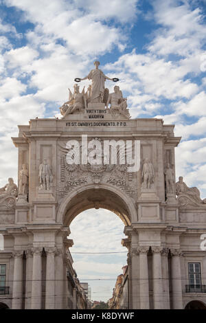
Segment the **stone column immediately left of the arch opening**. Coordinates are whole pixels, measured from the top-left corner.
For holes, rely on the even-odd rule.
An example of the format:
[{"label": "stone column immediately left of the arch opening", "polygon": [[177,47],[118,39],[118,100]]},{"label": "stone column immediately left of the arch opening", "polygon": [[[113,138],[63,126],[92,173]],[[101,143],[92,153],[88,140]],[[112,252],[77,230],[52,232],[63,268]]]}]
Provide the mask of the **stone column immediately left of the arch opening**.
[{"label": "stone column immediately left of the arch opening", "polygon": [[55,309],[64,309],[63,299],[65,298],[65,281],[63,275],[63,252],[61,249],[56,249],[55,253],[55,266],[56,266],[56,298],[55,298]]}]

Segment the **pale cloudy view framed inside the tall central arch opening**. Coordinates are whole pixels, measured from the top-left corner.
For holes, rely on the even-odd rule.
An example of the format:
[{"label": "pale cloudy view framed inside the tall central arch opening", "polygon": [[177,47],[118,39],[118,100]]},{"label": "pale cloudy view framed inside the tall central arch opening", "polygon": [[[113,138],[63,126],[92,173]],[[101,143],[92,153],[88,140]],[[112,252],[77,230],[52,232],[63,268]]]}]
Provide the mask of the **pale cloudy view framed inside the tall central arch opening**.
[{"label": "pale cloudy view framed inside the tall central arch opening", "polygon": [[97,306],[106,303],[127,265],[128,251],[121,245],[124,223],[109,210],[90,209],[73,219],[70,230],[73,247],[69,250],[78,278],[88,283],[90,300]]}]

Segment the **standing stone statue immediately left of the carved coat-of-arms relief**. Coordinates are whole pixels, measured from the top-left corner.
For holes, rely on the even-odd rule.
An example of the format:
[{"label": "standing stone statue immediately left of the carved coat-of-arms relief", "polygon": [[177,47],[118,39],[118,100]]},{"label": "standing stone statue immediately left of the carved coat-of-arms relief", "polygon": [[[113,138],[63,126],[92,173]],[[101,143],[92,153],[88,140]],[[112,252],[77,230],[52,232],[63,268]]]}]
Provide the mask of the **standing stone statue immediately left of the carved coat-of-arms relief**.
[{"label": "standing stone statue immediately left of the carved coat-of-arms relief", "polygon": [[49,164],[47,164],[47,159],[44,159],[43,164],[39,166],[38,178],[40,183],[40,190],[50,190],[50,188],[52,188],[52,170]]}]

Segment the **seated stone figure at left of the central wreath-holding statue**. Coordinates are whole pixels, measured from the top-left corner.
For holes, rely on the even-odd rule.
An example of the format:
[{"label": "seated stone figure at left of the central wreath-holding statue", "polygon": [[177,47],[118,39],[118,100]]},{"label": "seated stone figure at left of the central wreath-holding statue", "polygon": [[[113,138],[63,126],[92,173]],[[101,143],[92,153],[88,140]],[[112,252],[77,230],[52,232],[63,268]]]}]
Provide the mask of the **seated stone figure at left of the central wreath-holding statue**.
[{"label": "seated stone figure at left of the central wreath-holding statue", "polygon": [[84,94],[84,88],[82,89],[82,93],[80,93],[80,87],[75,84],[73,86],[73,93],[69,89],[69,101],[65,102],[62,107],[60,107],[60,113],[65,118],[66,115],[71,114],[78,111],[83,111],[87,108],[86,96]]}]

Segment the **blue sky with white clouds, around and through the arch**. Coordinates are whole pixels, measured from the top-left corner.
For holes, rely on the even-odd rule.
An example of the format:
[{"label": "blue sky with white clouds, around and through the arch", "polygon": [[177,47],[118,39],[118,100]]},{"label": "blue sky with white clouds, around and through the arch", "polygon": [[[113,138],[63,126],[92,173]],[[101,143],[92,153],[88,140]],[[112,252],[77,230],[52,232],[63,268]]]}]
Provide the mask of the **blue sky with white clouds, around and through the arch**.
[{"label": "blue sky with white clouds, around and through the arch", "polygon": [[[86,76],[98,59],[107,76],[120,79],[133,118],[176,124],[175,134],[182,136],[176,176],[183,175],[206,197],[205,12],[205,0],[0,0],[0,186],[8,176],[16,179],[16,148],[10,140],[16,125],[58,115],[73,79]],[[113,85],[107,81],[106,86]],[[82,223],[88,227],[84,232],[91,228],[92,240],[78,229]],[[72,227],[80,278],[117,276],[126,254],[104,255],[104,265],[101,255],[74,254],[91,252],[100,235],[96,250],[124,251],[117,216],[87,211]],[[95,272],[85,265],[87,257]]]}]

